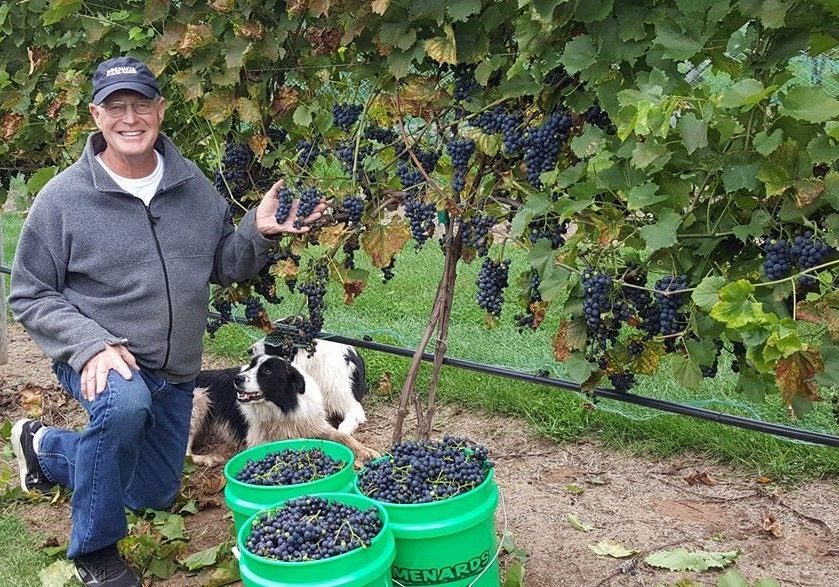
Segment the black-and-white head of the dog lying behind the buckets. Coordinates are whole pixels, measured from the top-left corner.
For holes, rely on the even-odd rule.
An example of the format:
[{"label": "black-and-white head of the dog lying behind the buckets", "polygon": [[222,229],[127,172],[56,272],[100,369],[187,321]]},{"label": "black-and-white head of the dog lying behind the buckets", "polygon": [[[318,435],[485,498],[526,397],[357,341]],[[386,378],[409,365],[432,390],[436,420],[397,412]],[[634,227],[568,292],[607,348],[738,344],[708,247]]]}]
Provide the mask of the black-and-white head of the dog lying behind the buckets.
[{"label": "black-and-white head of the dog lying behind the buckets", "polygon": [[267,401],[288,413],[297,406],[297,396],[306,391],[306,383],[287,361],[258,355],[233,378],[233,388],[242,404]]}]

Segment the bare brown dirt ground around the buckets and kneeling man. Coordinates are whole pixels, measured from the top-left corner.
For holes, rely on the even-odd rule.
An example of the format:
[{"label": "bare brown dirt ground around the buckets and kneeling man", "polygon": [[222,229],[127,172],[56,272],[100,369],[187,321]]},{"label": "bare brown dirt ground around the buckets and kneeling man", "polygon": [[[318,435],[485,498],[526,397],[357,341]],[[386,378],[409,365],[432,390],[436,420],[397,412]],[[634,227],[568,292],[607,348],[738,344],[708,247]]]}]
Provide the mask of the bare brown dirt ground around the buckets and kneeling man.
[{"label": "bare brown dirt ground around the buckets and kneeling man", "polygon": [[[26,410],[29,390],[48,391],[44,419],[54,425],[83,422],[80,409],[55,386],[49,362],[17,326],[10,329],[10,361],[0,366],[0,423]],[[219,366],[218,360],[208,364]],[[34,388],[32,386],[35,386]],[[383,450],[391,437],[393,407],[372,406],[359,431],[362,442]],[[412,429],[408,422],[406,430]],[[719,572],[673,573],[643,562],[658,550],[740,551],[736,568],[750,582],[771,577],[782,585],[825,587],[839,583],[839,484],[836,480],[789,488],[700,455],[640,458],[605,450],[596,440],[556,444],[535,437],[525,422],[468,409],[444,407],[435,426],[490,447],[503,500],[496,514],[528,553],[530,587],[717,585]],[[199,470],[191,484],[220,489],[219,469]],[[190,552],[218,544],[229,533],[220,494],[185,521]],[[215,507],[214,507],[215,506]],[[34,530],[66,542],[66,504],[35,504],[20,510]],[[568,516],[594,526],[574,529]],[[592,552],[602,540],[636,554],[616,559]],[[502,566],[510,564],[502,555]],[[197,585],[182,574],[155,585]],[[682,585],[691,583],[682,583]]]}]

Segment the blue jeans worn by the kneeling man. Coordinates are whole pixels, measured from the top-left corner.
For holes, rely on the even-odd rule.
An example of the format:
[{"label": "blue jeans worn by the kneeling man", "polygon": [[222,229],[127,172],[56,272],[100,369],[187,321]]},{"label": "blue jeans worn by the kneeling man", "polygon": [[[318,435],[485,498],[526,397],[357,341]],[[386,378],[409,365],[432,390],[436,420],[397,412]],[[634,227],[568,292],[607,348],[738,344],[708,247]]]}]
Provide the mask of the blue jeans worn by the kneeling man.
[{"label": "blue jeans worn by the kneeling man", "polygon": [[47,428],[38,462],[47,478],[73,490],[68,558],[114,544],[128,533],[125,508],[167,509],[181,484],[194,382],[173,384],[145,371],[131,380],[111,370],[92,402],[66,363],[53,371],[87,410],[82,432]]}]

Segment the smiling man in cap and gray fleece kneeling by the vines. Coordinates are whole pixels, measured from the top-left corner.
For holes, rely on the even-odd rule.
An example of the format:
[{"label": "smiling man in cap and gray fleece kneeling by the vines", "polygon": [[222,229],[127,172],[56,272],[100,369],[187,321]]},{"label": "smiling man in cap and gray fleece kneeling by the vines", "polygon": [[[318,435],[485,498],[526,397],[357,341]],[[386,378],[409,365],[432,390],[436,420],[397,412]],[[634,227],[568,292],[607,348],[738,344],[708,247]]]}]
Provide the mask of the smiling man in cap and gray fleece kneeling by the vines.
[{"label": "smiling man in cap and gray fleece kneeling by the vines", "polygon": [[165,109],[142,62],[101,63],[98,132],[40,192],[17,248],[9,305],[87,410],[81,433],[18,421],[24,491],[73,490],[67,550],[85,585],[140,585],[116,548],[124,508],[168,508],[180,487],[209,283],[254,275],[283,233],[277,182],[238,229],[198,167],[160,133]]}]

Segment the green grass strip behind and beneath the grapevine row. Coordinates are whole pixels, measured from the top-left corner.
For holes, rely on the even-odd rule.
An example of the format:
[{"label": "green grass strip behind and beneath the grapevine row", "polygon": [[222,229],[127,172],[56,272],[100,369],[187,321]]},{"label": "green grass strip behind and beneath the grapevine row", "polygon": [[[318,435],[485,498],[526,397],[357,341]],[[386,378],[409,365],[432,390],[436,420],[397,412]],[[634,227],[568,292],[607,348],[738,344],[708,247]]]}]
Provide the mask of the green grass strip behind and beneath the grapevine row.
[{"label": "green grass strip behind and beneath the grapevine row", "polygon": [[[22,217],[4,215],[7,266],[11,263],[14,243]],[[307,253],[314,256],[318,251]],[[536,333],[519,333],[512,315],[517,308],[515,296],[521,291],[516,280],[524,269],[525,253],[506,250],[512,259],[511,287],[502,320],[488,329],[483,311],[474,303],[475,277],[479,263],[459,266],[458,287],[452,308],[448,340],[451,357],[499,365],[525,372],[547,370],[555,377],[566,378],[561,363],[551,351],[551,337],[561,316],[551,308]],[[369,283],[352,306],[343,302],[343,294],[333,284],[327,295],[326,330],[354,338],[371,336],[383,343],[414,348],[421,337],[433,302],[436,284],[442,271],[439,249],[430,241],[415,253],[411,244],[399,255],[396,277],[387,284],[370,267],[363,255],[358,266],[371,271]],[[307,258],[304,255],[303,266]],[[285,292],[284,286],[280,288]],[[270,306],[272,316],[286,316],[300,311],[299,295],[288,295],[279,306]],[[558,306],[559,304],[557,304]],[[241,312],[241,309],[239,310]],[[258,331],[236,324],[224,326],[214,339],[205,338],[207,351],[238,361],[244,358]],[[407,373],[409,360],[389,354],[363,351],[368,365],[368,380],[375,387],[384,373],[392,376],[398,393]],[[420,386],[427,382],[429,366],[423,367]],[[790,421],[778,395],[762,404],[750,403],[735,391],[736,376],[723,356],[719,374],[706,379],[700,389],[686,390],[670,378],[667,365],[651,377],[641,377],[635,392],[641,395],[719,410],[758,420],[777,422],[802,429],[839,434],[829,402],[818,402],[802,420]],[[835,390],[827,390],[835,393]],[[614,400],[600,400],[597,410],[584,407],[586,399],[573,392],[528,384],[506,378],[483,375],[456,368],[444,368],[440,382],[441,402],[459,402],[497,414],[520,416],[540,433],[559,441],[585,435],[596,436],[607,446],[634,453],[671,455],[698,451],[720,461],[746,466],[755,474],[798,481],[839,473],[839,451],[828,447],[776,438],[763,433],[740,430],[686,416],[671,415],[632,406]]]}]

